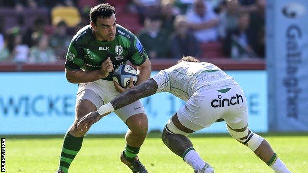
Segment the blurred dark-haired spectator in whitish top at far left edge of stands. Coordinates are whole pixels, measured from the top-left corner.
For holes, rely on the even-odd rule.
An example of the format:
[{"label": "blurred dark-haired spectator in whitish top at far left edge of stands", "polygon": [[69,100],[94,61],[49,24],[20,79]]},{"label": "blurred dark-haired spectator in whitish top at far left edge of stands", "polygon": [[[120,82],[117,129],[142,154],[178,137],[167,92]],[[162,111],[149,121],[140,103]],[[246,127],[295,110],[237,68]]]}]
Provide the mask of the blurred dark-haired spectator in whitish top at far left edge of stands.
[{"label": "blurred dark-haired spectator in whitish top at far left edge of stands", "polygon": [[29,47],[22,44],[20,28],[14,27],[7,31],[5,47],[1,51],[0,59],[15,62],[27,62]]}]

